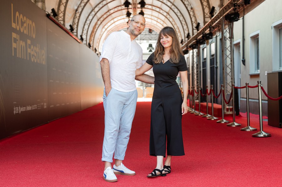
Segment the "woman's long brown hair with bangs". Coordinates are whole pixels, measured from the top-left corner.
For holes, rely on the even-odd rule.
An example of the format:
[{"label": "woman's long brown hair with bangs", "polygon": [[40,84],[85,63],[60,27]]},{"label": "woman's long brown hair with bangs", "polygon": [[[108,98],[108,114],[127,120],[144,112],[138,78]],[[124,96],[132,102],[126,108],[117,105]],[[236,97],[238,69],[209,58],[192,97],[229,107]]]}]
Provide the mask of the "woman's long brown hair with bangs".
[{"label": "woman's long brown hair with bangs", "polygon": [[156,50],[154,52],[154,59],[153,59],[154,63],[159,64],[160,62],[162,62],[163,54],[165,54],[165,48],[160,43],[161,34],[163,34],[164,36],[172,37],[172,45],[171,45],[171,49],[169,52],[170,53],[170,62],[178,64],[178,62],[180,61],[180,55],[183,55],[183,52],[180,48],[180,44],[179,44],[176,32],[172,27],[164,27],[159,32],[159,38],[158,38],[158,42],[155,47]]}]

